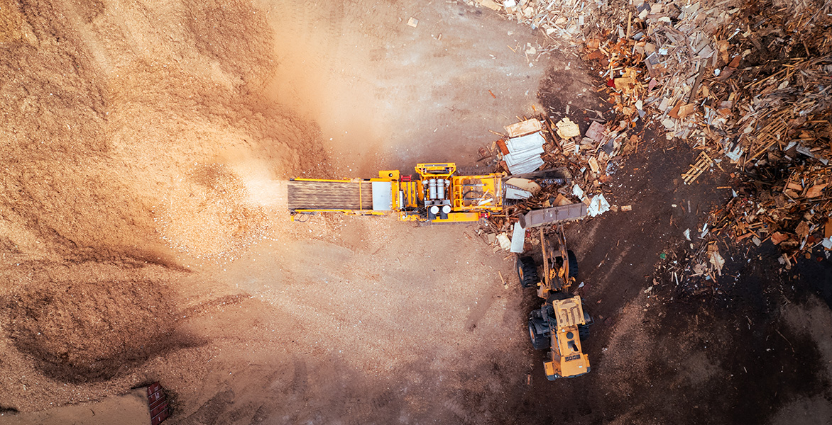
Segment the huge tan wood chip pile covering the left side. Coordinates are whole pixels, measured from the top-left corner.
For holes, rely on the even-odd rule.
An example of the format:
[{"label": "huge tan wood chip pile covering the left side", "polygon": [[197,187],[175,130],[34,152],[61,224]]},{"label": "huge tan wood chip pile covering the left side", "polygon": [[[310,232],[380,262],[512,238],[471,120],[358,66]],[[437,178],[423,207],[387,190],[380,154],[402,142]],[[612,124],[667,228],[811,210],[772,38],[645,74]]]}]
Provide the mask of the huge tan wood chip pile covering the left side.
[{"label": "huge tan wood chip pile covering the left side", "polygon": [[210,284],[181,261],[255,244],[262,192],[327,159],[316,125],[261,95],[274,34],[250,2],[0,0],[0,42],[0,396],[34,410],[196,344],[176,320],[205,300],[181,290]]}]

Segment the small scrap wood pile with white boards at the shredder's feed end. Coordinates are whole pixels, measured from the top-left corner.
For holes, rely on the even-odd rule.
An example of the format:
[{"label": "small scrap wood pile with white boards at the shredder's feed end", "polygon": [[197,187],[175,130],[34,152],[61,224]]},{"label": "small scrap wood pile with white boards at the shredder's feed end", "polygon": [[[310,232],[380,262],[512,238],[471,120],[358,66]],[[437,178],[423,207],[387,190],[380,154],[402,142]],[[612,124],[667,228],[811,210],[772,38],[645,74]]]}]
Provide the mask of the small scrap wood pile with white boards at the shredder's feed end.
[{"label": "small scrap wood pile with white boards at the shredder's feed end", "polygon": [[[617,129],[593,121],[584,134],[569,118],[553,123],[546,116],[505,127],[508,135],[493,143],[497,172],[508,173],[505,182],[506,202],[503,214],[488,218],[488,233],[501,239],[508,250],[508,235],[515,223],[528,217],[530,211],[546,211],[539,220],[560,220],[558,217],[597,216],[610,205],[604,194],[610,180],[612,159],[622,150],[622,136]],[[582,204],[581,208],[567,208]],[[631,206],[620,208],[630,211]],[[551,210],[551,211],[547,211]]]}]

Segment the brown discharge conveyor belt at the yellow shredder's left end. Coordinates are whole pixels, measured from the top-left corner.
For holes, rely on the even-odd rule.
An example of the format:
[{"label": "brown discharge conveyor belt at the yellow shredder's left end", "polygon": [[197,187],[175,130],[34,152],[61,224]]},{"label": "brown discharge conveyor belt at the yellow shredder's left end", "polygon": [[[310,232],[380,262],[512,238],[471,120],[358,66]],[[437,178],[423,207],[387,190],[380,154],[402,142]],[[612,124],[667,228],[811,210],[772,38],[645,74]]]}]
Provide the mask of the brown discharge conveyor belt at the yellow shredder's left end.
[{"label": "brown discharge conveyor belt at the yellow shredder's left end", "polygon": [[290,180],[289,209],[373,209],[373,186],[370,182]]}]

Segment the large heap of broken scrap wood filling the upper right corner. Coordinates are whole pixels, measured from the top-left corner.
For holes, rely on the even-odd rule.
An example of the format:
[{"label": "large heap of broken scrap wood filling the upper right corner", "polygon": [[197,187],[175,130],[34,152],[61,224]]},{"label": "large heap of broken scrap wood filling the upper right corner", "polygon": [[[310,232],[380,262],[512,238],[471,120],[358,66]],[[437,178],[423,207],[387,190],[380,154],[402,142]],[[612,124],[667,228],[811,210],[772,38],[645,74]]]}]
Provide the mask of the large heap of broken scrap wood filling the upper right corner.
[{"label": "large heap of broken scrap wood filling the upper right corner", "polygon": [[[723,209],[735,240],[770,240],[792,258],[832,244],[822,242],[832,226],[832,2],[475,1],[582,48],[617,113],[599,144],[637,152],[640,129],[651,125],[696,149],[686,184],[735,172],[745,183]],[[586,138],[564,139],[542,159],[568,157]]]}]

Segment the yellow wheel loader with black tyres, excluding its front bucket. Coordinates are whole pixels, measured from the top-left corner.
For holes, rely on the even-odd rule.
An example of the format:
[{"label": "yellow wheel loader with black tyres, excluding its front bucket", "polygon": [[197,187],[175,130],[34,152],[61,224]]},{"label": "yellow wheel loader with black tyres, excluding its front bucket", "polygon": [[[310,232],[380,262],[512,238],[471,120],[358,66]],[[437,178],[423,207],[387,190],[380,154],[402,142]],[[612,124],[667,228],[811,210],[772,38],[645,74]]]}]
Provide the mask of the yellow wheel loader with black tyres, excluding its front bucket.
[{"label": "yellow wheel loader with black tyres, excluding its front bucket", "polygon": [[589,372],[581,341],[589,336],[592,317],[583,310],[581,297],[569,292],[577,276],[577,257],[567,250],[563,227],[557,229],[557,249],[547,247],[547,242],[541,229],[540,266],[531,256],[518,256],[517,269],[521,286],[537,286],[537,296],[546,300],[529,314],[528,333],[534,349],[549,350],[543,369],[547,379],[554,380]]}]

